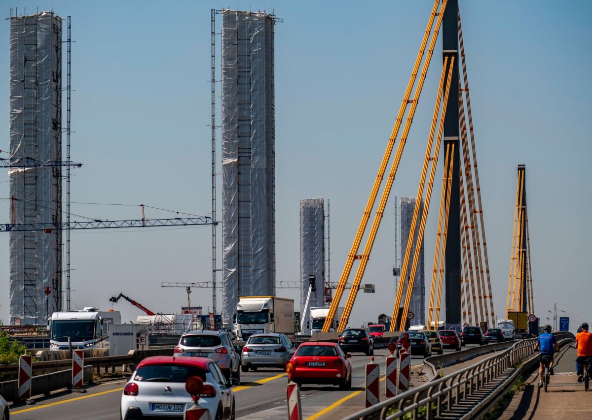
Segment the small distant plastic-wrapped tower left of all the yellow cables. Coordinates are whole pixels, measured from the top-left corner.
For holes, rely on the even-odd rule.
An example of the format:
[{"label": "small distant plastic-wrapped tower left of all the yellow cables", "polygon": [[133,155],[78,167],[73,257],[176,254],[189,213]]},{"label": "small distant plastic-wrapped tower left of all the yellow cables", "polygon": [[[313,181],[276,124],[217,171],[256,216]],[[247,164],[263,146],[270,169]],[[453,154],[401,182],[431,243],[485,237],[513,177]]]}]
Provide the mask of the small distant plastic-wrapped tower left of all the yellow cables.
[{"label": "small distant plastic-wrapped tower left of all the yellow cables", "polygon": [[314,290],[308,308],[325,306],[325,210],[323,198],[300,200],[300,312],[303,325],[310,321],[304,311],[311,280]]}]

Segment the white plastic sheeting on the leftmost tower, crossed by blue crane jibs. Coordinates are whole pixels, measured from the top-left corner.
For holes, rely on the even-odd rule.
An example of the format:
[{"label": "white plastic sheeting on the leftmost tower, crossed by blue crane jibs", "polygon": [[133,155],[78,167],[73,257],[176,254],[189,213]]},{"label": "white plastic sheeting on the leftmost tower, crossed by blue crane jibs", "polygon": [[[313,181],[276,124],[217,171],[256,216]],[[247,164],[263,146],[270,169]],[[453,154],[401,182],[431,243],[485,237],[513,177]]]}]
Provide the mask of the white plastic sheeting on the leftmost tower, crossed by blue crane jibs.
[{"label": "white plastic sheeting on the leftmost tower, crossed by blue crane jibs", "polygon": [[[62,19],[53,12],[10,19],[10,152],[62,159]],[[11,223],[60,223],[60,167],[8,172]],[[12,207],[12,206],[11,206]],[[12,214],[14,213],[14,220]],[[14,232],[10,243],[10,323],[44,324],[61,310],[61,233]],[[50,294],[44,293],[49,287]]]}]

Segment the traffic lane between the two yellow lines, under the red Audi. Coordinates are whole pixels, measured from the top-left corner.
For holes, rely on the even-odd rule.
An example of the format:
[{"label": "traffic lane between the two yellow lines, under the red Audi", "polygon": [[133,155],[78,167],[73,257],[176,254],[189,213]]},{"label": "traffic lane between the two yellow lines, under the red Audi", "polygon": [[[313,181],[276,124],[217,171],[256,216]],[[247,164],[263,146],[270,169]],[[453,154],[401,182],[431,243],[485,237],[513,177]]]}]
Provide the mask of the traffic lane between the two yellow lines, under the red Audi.
[{"label": "traffic lane between the two yellow lines, under the red Audi", "polygon": [[[384,365],[385,358],[390,354],[387,349],[374,351],[374,362]],[[371,362],[371,356],[353,353],[350,360],[352,364],[352,388],[349,390],[340,390],[337,386],[330,385],[303,385],[300,389],[300,397],[303,406],[303,415],[305,417],[317,415],[334,403],[352,396],[363,390],[365,386],[365,366]],[[423,363],[423,359],[413,360],[413,364]],[[277,375],[279,370],[269,370],[268,375]],[[256,372],[258,375],[265,375],[262,369]],[[246,383],[247,378],[241,378]],[[262,385],[248,386],[248,389],[242,389],[235,392],[236,398],[236,416],[244,419],[275,419],[284,418],[287,410],[286,405],[286,386],[287,377],[278,378],[278,380],[269,380]]]}]

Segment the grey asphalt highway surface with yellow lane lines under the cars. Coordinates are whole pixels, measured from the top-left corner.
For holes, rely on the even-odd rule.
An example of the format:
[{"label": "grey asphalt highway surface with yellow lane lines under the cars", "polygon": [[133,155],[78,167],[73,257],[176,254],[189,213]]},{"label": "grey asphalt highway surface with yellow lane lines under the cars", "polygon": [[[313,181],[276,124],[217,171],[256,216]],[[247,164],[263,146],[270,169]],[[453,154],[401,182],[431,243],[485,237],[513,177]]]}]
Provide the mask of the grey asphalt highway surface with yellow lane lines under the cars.
[{"label": "grey asphalt highway surface with yellow lane lines under the cars", "polygon": [[[448,352],[449,350],[445,350]],[[375,362],[381,364],[384,376],[385,357],[388,350],[375,350]],[[362,409],[363,401],[355,398],[364,392],[364,366],[370,356],[352,354],[352,388],[339,390],[337,386],[303,385],[301,399],[303,418],[331,418],[332,409],[340,405],[350,405],[351,412]],[[411,364],[422,364],[423,357],[414,356]],[[56,392],[48,398],[36,399],[35,405],[11,407],[11,418],[27,419],[118,419],[119,403],[124,381],[92,386],[87,393]],[[259,369],[257,372],[242,373],[240,385],[234,387],[236,398],[236,417],[242,419],[285,418],[287,376],[280,369]],[[382,384],[381,384],[382,385]],[[384,385],[382,385],[384,386]],[[349,401],[349,404],[348,404]],[[355,402],[354,404],[352,404]]]}]

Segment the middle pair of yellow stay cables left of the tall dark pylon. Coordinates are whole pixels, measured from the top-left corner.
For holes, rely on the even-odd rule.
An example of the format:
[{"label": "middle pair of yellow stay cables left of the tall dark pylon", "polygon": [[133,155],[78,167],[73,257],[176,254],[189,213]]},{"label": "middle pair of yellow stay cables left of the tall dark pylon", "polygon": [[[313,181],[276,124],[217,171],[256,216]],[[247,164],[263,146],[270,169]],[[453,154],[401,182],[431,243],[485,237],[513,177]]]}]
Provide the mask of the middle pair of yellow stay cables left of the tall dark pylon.
[{"label": "middle pair of yellow stay cables left of the tall dark pylon", "polygon": [[[440,15],[440,17],[442,17]],[[434,155],[432,157],[432,168],[430,170],[430,180],[429,183],[427,184],[427,194],[426,194],[426,201],[424,203],[424,207],[423,207],[423,214],[422,214],[422,220],[420,223],[420,227],[419,227],[419,232],[417,234],[417,244],[420,245],[423,241],[423,233],[424,233],[424,229],[426,226],[426,219],[427,219],[427,213],[430,207],[430,198],[432,196],[432,188],[434,185],[434,176],[436,175],[436,166],[437,166],[437,160],[438,160],[438,154],[440,151],[440,144],[442,143],[442,141],[440,140],[442,138],[442,131],[444,129],[444,119],[446,116],[446,107],[448,106],[448,96],[450,93],[450,82],[451,82],[451,78],[452,78],[452,70],[453,70],[453,66],[454,66],[454,57],[452,56],[450,58],[450,63],[449,63],[449,69],[448,69],[448,79],[447,79],[447,83],[446,83],[446,92],[444,94],[444,102],[443,102],[443,106],[442,106],[442,113],[440,114],[440,123],[439,123],[439,127],[438,127],[438,134],[436,136],[436,148],[434,151]],[[423,183],[425,182],[425,179],[423,179],[420,182],[420,188],[422,188],[423,190]],[[421,200],[422,195],[421,194],[417,194],[417,199]],[[415,220],[415,222],[417,223],[417,217],[416,217],[416,213],[414,212],[413,214],[413,219]],[[411,228],[413,228],[414,224],[413,222],[411,223]],[[409,263],[409,254],[410,254],[410,250],[411,250],[411,245],[413,244],[413,236],[409,235],[409,240],[407,241],[407,250],[406,250],[406,255],[405,255],[405,261],[404,261],[404,265],[403,265],[403,273],[407,273],[407,267],[408,267],[408,263]],[[403,308],[403,313],[401,314],[401,331],[404,330],[405,327],[405,320],[407,318],[407,313],[409,311],[409,304],[411,302],[411,293],[413,292],[413,284],[415,282],[415,275],[417,272],[417,263],[419,262],[419,252],[416,252],[413,256],[413,266],[411,266],[411,273],[408,279],[408,285],[407,285],[407,295],[405,297],[405,305]],[[394,327],[397,321],[397,315],[398,315],[398,308],[399,305],[401,304],[401,297],[403,295],[403,289],[401,288],[402,283],[399,283],[399,289],[397,291],[397,300],[395,301],[395,306],[393,308],[393,314],[394,316],[392,317],[391,320],[391,331],[394,331]],[[395,313],[396,312],[396,313]]]}]

